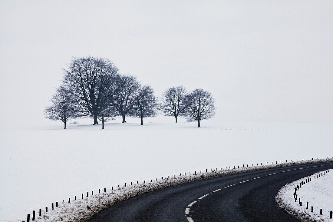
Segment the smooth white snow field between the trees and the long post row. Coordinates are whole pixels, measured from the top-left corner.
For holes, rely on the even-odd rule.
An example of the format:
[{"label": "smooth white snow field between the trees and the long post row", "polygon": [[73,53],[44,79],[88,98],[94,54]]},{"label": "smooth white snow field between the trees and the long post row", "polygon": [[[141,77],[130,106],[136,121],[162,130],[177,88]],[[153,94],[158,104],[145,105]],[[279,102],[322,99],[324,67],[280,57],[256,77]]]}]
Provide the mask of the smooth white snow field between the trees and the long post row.
[{"label": "smooth white snow field between the trees and the long post row", "polygon": [[210,120],[201,125],[2,128],[0,221],[23,221],[27,213],[56,201],[130,182],[216,167],[332,157],[333,124]]}]

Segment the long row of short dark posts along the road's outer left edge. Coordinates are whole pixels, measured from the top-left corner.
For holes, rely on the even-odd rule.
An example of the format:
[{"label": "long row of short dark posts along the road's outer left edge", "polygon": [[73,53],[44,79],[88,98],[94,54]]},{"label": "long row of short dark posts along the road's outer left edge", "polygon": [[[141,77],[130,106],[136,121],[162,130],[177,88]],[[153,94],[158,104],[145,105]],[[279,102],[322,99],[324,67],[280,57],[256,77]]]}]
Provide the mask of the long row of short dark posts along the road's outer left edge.
[{"label": "long row of short dark posts along the road's outer left edge", "polygon": [[[324,159],[324,158],[323,158]],[[333,157],[332,157],[333,159]],[[309,158],[308,158],[309,160]],[[313,160],[313,158],[311,159]],[[317,158],[318,160],[318,158]],[[298,161],[298,159],[297,159]],[[302,159],[302,161],[304,161],[304,159]],[[292,162],[292,160],[291,160]],[[282,163],[282,160],[280,160],[280,163]],[[287,163],[287,160],[286,160],[286,163]],[[277,164],[277,161],[275,161],[275,164]],[[262,166],[262,162],[260,163],[260,165]],[[266,165],[268,165],[268,162],[266,162]],[[273,161],[272,161],[272,165],[273,165]],[[243,168],[244,168],[245,164],[243,164]],[[253,166],[253,163],[251,164],[251,166]],[[257,166],[258,166],[258,163],[257,163]],[[249,165],[247,164],[247,167],[249,167]],[[239,168],[239,165],[238,165],[238,168]],[[225,167],[225,169],[227,170],[227,167]],[[229,170],[231,169],[231,167],[229,166]],[[236,169],[235,166],[233,166],[233,169]],[[222,170],[222,167],[221,167],[221,170]],[[214,170],[212,168],[210,168],[210,171],[213,172]],[[215,172],[217,171],[217,168],[215,168]],[[200,170],[200,174],[202,173],[202,171]],[[206,169],[206,173],[207,173],[207,169]],[[196,174],[196,171],[195,171],[195,174]],[[189,172],[189,175],[191,175],[191,172]],[[184,176],[186,176],[186,172],[184,173]],[[179,177],[181,177],[181,173],[179,174]],[[175,175],[173,175],[173,178],[175,178]],[[162,177],[163,179],[163,177]],[[169,176],[167,176],[167,179],[169,179]],[[157,178],[155,178],[155,181],[157,181]],[[150,182],[153,182],[153,180],[150,180]],[[137,184],[139,183],[139,181],[137,181]],[[146,180],[144,180],[144,184],[146,184]],[[118,188],[119,188],[119,185],[117,185]],[[131,182],[131,186],[132,186],[132,182]],[[125,183],[125,187],[127,187],[127,183]],[[113,187],[111,187],[111,190],[113,190]],[[101,193],[101,189],[98,189],[98,192]],[[104,188],[104,192],[106,192],[106,188]],[[91,195],[94,194],[94,191],[91,191]],[[87,197],[89,197],[89,192],[87,192]],[[83,199],[83,194],[81,194],[81,199]],[[76,201],[76,196],[74,196],[74,201]],[[68,198],[68,203],[71,202],[71,198]],[[65,203],[65,200],[62,201],[62,203]],[[58,202],[56,202],[56,207],[58,207]],[[87,206],[88,208],[88,206]],[[89,207],[90,208],[90,207]],[[53,210],[54,209],[54,204],[52,203],[52,206],[51,206],[51,209]],[[45,212],[48,212],[48,207],[45,207]],[[32,220],[34,221],[35,220],[35,211],[33,211],[33,214],[32,214]],[[41,217],[42,216],[42,208],[39,209],[39,216]],[[24,221],[22,221],[24,222]],[[30,222],[30,214],[27,215],[27,222]]]}]

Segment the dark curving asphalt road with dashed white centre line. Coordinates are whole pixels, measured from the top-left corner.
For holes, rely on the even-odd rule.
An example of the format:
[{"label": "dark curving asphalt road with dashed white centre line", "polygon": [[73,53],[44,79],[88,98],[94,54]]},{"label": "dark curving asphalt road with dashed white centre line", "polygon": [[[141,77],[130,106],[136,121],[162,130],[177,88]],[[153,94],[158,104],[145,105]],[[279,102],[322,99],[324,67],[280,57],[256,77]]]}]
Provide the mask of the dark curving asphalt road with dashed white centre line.
[{"label": "dark curving asphalt road with dashed white centre line", "polygon": [[332,168],[333,162],[312,163],[189,182],[122,201],[90,221],[298,221],[277,208],[275,194],[287,183]]}]

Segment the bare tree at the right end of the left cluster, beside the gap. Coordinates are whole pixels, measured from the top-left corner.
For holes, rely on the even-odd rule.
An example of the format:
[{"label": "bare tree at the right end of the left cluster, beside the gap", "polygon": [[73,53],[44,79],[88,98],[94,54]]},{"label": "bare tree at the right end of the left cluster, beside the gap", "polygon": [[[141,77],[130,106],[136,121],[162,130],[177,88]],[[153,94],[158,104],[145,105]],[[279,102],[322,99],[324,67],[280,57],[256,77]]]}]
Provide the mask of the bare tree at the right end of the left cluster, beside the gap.
[{"label": "bare tree at the right end of the left cluster, beside the gap", "polygon": [[154,96],[154,91],[149,85],[140,88],[138,92],[138,101],[132,113],[132,116],[141,118],[141,126],[144,117],[154,117],[157,115],[157,98]]}]

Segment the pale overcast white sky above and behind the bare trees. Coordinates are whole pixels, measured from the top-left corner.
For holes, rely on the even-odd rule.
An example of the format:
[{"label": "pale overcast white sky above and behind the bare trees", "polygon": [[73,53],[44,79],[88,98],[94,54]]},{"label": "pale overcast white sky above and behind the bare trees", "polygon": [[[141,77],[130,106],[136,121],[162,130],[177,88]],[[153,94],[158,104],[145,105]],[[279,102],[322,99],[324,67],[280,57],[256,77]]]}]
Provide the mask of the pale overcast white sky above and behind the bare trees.
[{"label": "pale overcast white sky above and behind the bare trees", "polygon": [[48,122],[62,68],[87,55],[158,96],[209,90],[216,121],[333,123],[332,11],[304,0],[0,1],[0,124]]}]

